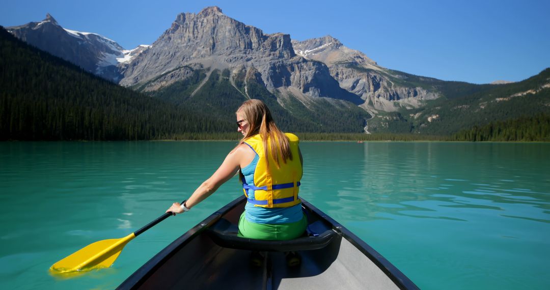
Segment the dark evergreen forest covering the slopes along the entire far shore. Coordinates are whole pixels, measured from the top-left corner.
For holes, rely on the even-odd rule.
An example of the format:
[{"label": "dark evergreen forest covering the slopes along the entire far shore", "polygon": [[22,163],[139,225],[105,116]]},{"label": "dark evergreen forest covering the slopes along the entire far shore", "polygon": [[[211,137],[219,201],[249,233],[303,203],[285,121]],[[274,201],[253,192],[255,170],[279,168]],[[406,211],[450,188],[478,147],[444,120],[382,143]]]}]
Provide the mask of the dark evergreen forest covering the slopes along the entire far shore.
[{"label": "dark evergreen forest covering the slopes along the entire far shore", "polygon": [[[161,90],[147,92],[147,83],[125,88],[29,46],[2,27],[0,141],[238,140],[234,111],[249,96],[265,102],[278,126],[302,140],[550,141],[550,69],[498,86],[419,79],[448,96],[375,118],[328,98],[306,108],[295,97],[267,91],[254,74],[238,74],[230,83],[227,69],[181,69],[190,76]],[[409,75],[410,81],[415,77]],[[525,91],[530,93],[521,94]],[[433,115],[437,121],[427,122]],[[363,133],[365,125],[373,134]]]}]

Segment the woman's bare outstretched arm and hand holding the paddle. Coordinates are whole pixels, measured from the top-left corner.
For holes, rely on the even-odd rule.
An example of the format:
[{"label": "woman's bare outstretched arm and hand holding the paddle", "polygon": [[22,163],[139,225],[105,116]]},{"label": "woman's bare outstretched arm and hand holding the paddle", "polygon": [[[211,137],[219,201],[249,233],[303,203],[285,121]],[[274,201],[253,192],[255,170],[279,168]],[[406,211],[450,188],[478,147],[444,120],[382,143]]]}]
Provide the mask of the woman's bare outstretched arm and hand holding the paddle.
[{"label": "woman's bare outstretched arm and hand holding the paddle", "polygon": [[[218,170],[216,170],[209,179],[202,182],[202,184],[195,189],[195,192],[191,194],[191,197],[186,200],[185,207],[189,209],[193,208],[196,204],[202,202],[202,200],[214,193],[223,183],[235,176],[240,168],[240,160],[243,158],[242,155],[243,150],[241,147],[229,152]],[[183,209],[180,207],[179,203],[172,204],[172,207],[166,210],[167,213],[168,211],[172,211],[174,214],[183,213]]]}]

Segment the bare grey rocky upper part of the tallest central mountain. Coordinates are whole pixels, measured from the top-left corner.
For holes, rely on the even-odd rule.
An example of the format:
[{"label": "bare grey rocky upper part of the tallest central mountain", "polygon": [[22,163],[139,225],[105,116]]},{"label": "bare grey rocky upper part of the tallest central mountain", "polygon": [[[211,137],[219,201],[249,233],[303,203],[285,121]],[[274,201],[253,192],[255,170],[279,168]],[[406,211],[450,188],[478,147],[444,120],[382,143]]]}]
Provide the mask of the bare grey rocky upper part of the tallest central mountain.
[{"label": "bare grey rocky upper part of the tallest central mountain", "polygon": [[297,56],[289,35],[263,34],[256,27],[229,18],[218,7],[205,8],[198,14],[179,14],[150,49],[124,68],[120,84],[139,85],[170,72],[162,80],[150,83],[160,88],[185,78],[185,66],[208,71],[229,69],[232,83],[241,71],[254,71],[271,93],[363,102],[340,88],[326,65]]}]

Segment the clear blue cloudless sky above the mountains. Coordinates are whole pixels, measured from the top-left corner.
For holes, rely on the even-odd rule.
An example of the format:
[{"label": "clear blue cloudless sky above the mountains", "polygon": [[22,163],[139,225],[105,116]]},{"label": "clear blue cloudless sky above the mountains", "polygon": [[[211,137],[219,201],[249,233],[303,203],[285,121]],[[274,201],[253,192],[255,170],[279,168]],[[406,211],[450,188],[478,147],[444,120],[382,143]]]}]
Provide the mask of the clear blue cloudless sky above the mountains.
[{"label": "clear blue cloudless sky above the mountains", "polygon": [[520,81],[550,67],[550,0],[20,0],[2,3],[0,25],[50,13],[131,49],[155,42],[177,14],[212,5],[267,34],[328,34],[384,68],[441,80]]}]

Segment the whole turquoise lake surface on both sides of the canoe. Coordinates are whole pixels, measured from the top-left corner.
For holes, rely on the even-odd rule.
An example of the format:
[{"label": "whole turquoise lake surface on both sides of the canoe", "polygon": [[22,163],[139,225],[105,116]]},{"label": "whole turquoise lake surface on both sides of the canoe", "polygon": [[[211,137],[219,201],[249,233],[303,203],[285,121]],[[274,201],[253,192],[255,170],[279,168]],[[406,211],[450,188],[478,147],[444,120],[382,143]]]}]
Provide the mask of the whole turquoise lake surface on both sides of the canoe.
[{"label": "whole turquoise lake surface on both sides of the canoe", "polygon": [[[0,143],[0,288],[112,289],[241,193],[237,179],[131,241],[109,269],[48,274],[188,197],[234,142]],[[302,197],[422,289],[547,289],[550,144],[303,142]]]}]

